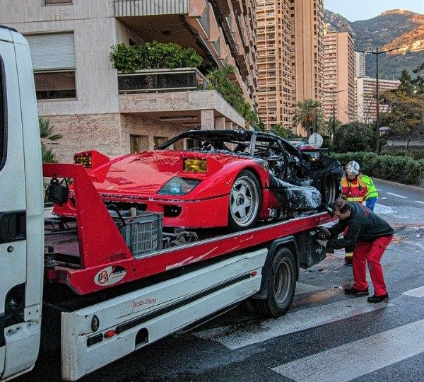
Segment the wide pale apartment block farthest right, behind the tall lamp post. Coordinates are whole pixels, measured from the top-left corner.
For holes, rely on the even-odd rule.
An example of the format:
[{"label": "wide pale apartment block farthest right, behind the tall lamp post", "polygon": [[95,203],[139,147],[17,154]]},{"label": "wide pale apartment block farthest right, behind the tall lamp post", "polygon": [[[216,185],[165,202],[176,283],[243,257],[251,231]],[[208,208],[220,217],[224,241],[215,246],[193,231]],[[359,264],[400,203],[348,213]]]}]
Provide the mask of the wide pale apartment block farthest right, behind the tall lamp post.
[{"label": "wide pale apartment block farthest right, behind the tall lamp post", "polygon": [[[364,123],[370,123],[377,120],[377,79],[370,77],[361,77],[356,81],[356,105],[358,120]],[[399,80],[378,80],[379,93],[382,91],[399,88]],[[387,111],[384,105],[380,105],[379,112]]]}]

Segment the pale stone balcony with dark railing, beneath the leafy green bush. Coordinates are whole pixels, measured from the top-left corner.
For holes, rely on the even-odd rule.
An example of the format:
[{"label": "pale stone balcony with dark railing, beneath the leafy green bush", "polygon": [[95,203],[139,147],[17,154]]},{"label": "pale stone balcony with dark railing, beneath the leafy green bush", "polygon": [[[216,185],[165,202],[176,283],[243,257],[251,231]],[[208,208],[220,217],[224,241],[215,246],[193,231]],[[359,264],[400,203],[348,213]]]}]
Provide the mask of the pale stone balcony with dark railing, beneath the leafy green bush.
[{"label": "pale stone balcony with dark railing, beneath the leafy green bush", "polygon": [[194,68],[118,74],[119,112],[182,128],[245,127],[245,120]]}]

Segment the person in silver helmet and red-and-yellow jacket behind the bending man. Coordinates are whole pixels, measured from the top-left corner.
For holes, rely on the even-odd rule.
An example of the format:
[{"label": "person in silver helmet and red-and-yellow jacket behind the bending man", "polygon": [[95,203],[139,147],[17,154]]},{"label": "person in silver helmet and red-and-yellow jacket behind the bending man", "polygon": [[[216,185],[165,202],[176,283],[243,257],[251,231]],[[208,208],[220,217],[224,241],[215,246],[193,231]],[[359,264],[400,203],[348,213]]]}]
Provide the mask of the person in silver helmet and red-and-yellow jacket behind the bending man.
[{"label": "person in silver helmet and red-and-yellow jacket behind the bending man", "polygon": [[[367,195],[367,185],[359,178],[360,166],[358,162],[350,161],[345,167],[345,176],[341,178],[341,197],[348,202],[362,204]],[[352,264],[353,251],[346,250],[345,264]]]}]

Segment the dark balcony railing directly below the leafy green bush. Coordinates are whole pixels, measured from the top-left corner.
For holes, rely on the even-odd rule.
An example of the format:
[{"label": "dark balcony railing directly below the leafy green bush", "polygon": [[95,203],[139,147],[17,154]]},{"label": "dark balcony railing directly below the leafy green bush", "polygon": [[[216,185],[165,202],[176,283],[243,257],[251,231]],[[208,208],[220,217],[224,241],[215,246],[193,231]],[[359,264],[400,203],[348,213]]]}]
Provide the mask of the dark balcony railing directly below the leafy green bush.
[{"label": "dark balcony railing directly below the leafy green bush", "polygon": [[195,68],[145,69],[118,74],[120,94],[204,90],[206,83],[206,78]]}]

